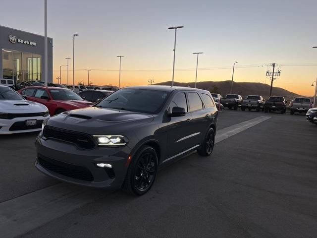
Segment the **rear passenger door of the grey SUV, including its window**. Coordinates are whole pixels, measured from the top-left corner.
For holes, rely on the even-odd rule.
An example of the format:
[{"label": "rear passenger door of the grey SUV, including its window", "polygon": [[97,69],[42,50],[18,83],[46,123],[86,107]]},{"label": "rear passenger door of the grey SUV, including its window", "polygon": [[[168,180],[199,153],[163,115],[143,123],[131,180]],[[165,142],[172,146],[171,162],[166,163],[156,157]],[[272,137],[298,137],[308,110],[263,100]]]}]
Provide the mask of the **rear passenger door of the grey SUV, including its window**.
[{"label": "rear passenger door of the grey SUV, including its window", "polygon": [[209,112],[200,94],[197,91],[188,91],[188,102],[190,112],[192,114],[191,131],[195,136],[193,136],[193,145],[201,144],[205,138],[207,130],[210,126],[211,112]]}]

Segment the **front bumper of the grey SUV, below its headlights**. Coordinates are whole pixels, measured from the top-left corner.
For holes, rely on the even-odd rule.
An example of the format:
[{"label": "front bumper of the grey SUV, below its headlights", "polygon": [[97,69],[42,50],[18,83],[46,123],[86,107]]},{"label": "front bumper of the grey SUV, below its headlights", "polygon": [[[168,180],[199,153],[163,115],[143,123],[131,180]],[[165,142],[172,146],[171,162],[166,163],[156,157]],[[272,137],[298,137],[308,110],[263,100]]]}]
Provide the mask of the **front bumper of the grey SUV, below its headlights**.
[{"label": "front bumper of the grey SUV, below its headlights", "polygon": [[[128,169],[131,149],[124,147],[81,150],[66,142],[38,136],[36,168],[43,174],[65,182],[103,189],[121,187]],[[97,167],[97,163],[112,168]]]}]

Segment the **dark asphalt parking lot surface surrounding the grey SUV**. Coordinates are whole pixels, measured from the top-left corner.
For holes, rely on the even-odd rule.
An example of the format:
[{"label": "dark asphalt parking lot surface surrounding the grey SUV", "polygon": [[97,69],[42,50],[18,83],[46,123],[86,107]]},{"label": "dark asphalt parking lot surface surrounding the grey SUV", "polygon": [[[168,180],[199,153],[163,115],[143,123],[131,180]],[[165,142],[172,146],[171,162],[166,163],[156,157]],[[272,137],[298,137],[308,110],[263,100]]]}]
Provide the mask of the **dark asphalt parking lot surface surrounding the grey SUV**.
[{"label": "dark asphalt parking lot surface surrounding the grey SUV", "polygon": [[0,237],[317,237],[317,126],[225,110],[218,135],[259,117],[270,118],[219,141],[211,157],[160,170],[141,197],[50,179],[34,167],[37,133],[1,136]]}]

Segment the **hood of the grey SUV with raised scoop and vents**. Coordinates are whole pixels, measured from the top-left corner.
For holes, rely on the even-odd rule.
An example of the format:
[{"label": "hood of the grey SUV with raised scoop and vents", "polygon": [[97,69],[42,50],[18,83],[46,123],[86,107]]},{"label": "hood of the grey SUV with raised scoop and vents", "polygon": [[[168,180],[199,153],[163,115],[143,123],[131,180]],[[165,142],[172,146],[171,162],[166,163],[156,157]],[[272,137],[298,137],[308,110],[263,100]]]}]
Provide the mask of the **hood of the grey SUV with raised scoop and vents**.
[{"label": "hood of the grey SUV with raised scoop and vents", "polygon": [[118,134],[149,123],[153,115],[105,108],[82,108],[52,117],[48,125],[87,134]]}]

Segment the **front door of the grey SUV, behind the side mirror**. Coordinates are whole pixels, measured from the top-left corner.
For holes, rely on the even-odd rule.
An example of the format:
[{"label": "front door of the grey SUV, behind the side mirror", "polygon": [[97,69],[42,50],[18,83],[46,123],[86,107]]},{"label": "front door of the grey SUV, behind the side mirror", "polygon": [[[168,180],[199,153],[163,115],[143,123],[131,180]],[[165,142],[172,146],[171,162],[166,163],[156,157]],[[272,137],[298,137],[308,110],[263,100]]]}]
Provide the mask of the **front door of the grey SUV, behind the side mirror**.
[{"label": "front door of the grey SUV, behind the side mirror", "polygon": [[187,96],[185,91],[177,92],[169,106],[168,112],[172,112],[173,107],[185,108],[185,116],[171,117],[167,125],[167,146],[166,146],[166,160],[172,159],[182,152],[192,147],[192,142],[189,139],[192,131],[190,124],[192,120],[189,112]]}]

